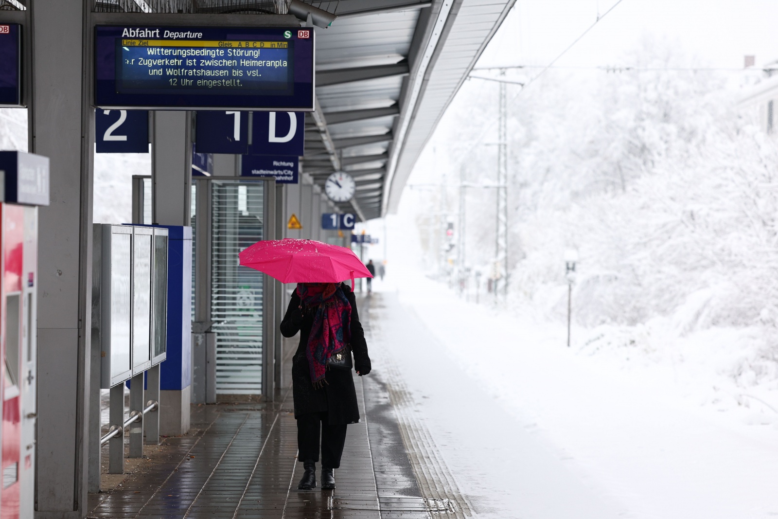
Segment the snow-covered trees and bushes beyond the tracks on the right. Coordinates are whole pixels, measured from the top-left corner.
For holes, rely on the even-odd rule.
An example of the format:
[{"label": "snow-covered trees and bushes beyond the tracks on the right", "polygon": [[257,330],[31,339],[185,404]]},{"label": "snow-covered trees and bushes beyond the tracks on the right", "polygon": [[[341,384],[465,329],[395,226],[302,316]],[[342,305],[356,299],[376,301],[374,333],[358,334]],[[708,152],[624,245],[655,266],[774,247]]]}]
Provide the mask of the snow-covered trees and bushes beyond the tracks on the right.
[{"label": "snow-covered trees and bushes beyond the tracks on the right", "polygon": [[[646,40],[624,62],[618,72],[549,70],[524,92],[509,89],[513,303],[561,317],[563,251],[574,247],[580,324],[664,315],[682,334],[772,328],[778,142],[735,109],[729,78],[689,70],[675,47]],[[447,140],[468,142],[496,121],[496,88],[463,89]],[[468,182],[493,182],[496,148],[468,150],[452,146],[450,162],[466,157]],[[469,189],[466,200],[466,257],[487,264],[494,193]]]}]

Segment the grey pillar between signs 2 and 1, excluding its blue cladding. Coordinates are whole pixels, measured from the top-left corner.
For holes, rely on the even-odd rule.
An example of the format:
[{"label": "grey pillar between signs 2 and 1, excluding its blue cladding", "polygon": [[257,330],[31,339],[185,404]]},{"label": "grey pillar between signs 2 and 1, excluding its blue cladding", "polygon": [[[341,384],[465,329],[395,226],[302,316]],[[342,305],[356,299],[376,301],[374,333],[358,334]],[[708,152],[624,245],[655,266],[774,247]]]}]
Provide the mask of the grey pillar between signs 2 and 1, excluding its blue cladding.
[{"label": "grey pillar between signs 2 and 1, excluding its blue cladding", "polygon": [[[191,112],[156,110],[152,118],[152,222],[188,226],[191,216]],[[189,332],[187,332],[189,333]],[[189,430],[191,386],[159,391],[160,433]]]}]

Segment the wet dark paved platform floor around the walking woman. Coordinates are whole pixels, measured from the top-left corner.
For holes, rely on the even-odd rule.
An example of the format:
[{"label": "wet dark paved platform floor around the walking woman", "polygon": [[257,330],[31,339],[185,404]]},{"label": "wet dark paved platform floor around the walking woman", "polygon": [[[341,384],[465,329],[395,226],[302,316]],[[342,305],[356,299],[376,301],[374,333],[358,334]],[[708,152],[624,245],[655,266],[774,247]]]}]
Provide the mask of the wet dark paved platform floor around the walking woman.
[{"label": "wet dark paved platform floor around the walking woman", "polygon": [[354,376],[362,421],[348,428],[335,490],[318,486],[321,464],[317,488],[297,490],[303,465],[287,388],[275,402],[192,406],[190,433],[145,447],[149,458],[121,485],[89,495],[89,517],[466,517],[467,504],[436,476],[432,444],[395,412],[388,378],[380,368]]}]

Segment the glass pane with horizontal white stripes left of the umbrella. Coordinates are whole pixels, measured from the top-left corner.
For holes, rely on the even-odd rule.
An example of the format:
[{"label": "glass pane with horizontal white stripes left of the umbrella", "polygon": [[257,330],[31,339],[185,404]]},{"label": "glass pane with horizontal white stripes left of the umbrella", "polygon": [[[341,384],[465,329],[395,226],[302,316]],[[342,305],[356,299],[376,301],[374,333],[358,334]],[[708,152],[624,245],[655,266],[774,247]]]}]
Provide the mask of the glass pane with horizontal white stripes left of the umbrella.
[{"label": "glass pane with horizontal white stripes left of the umbrella", "polygon": [[262,239],[264,202],[264,184],[212,183],[211,318],[219,395],[261,394],[262,275],[238,265],[238,252]]}]

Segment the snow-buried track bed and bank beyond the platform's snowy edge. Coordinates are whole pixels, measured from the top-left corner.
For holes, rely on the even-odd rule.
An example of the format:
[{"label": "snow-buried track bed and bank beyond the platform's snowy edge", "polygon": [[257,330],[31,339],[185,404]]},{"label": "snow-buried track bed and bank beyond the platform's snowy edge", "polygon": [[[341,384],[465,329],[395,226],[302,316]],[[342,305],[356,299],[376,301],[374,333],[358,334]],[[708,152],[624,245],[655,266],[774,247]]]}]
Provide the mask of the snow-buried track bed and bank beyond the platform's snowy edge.
[{"label": "snow-buried track bed and bank beyond the platform's snowy edge", "polygon": [[657,318],[575,327],[567,349],[559,321],[465,303],[395,267],[403,281],[385,289],[397,289],[472,382],[621,503],[624,517],[778,513],[778,391],[756,376],[759,330],[681,336],[671,319]]}]

